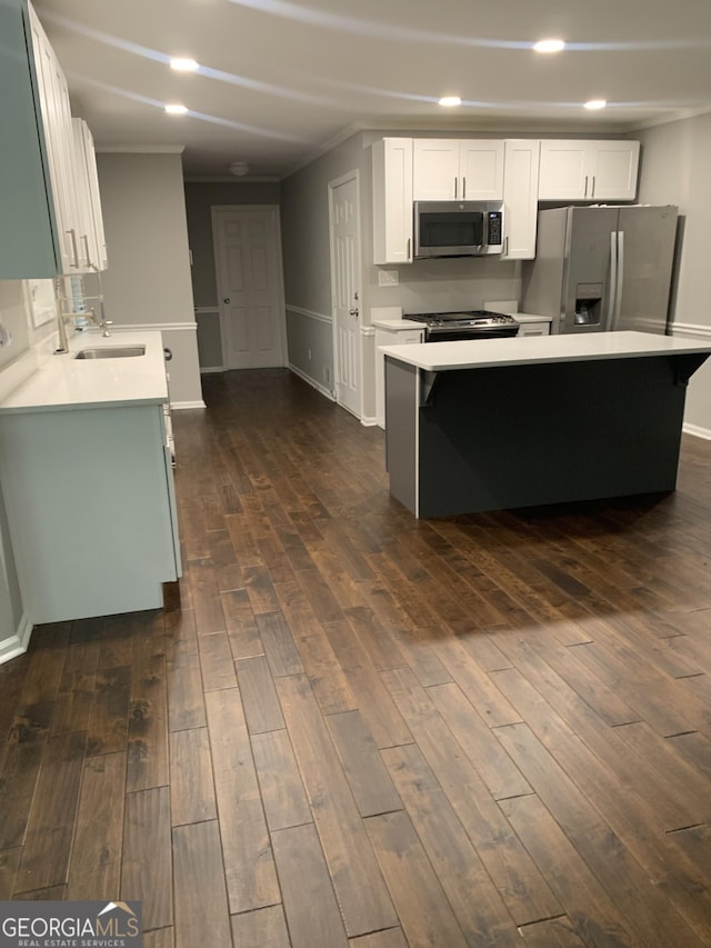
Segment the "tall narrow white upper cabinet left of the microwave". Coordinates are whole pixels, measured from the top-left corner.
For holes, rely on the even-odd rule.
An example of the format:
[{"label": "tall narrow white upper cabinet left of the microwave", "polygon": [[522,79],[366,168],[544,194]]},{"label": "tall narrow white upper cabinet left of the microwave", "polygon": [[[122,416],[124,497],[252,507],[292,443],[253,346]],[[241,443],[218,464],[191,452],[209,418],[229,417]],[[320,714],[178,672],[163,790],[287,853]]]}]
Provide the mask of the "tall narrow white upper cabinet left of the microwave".
[{"label": "tall narrow white upper cabinet left of the microwave", "polygon": [[412,139],[373,143],[373,263],[412,262]]}]

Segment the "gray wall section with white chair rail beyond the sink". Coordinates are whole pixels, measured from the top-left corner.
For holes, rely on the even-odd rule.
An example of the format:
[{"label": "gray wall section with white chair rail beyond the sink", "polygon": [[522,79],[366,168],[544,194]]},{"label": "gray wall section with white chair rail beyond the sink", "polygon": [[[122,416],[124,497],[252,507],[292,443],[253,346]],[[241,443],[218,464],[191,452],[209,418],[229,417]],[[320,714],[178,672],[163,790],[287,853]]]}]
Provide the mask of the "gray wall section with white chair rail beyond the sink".
[{"label": "gray wall section with white chair rail beyond the sink", "polygon": [[[178,323],[163,331],[173,351],[171,401],[202,401],[190,253],[179,153],[99,153],[99,187],[109,269],[107,318],[118,327]],[[97,283],[87,278],[88,292]]]}]

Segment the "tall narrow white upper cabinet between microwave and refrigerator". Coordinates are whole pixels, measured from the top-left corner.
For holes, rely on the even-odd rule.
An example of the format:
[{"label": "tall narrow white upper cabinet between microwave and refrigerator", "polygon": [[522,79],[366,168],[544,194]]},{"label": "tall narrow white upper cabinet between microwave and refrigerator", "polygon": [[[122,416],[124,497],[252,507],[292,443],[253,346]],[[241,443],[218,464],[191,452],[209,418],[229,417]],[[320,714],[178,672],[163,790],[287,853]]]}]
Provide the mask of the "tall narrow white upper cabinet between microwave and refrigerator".
[{"label": "tall narrow white upper cabinet between microwave and refrigerator", "polygon": [[504,260],[535,257],[540,151],[540,141],[511,139],[505,142],[501,255]]}]

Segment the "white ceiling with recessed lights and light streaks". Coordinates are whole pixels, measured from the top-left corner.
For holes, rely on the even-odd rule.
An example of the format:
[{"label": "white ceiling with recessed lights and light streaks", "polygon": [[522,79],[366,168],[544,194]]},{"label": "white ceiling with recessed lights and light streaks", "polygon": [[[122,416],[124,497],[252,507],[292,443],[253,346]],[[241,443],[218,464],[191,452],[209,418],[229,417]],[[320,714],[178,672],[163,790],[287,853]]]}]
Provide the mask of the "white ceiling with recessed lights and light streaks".
[{"label": "white ceiling with recessed lights and light streaks", "polygon": [[[283,177],[356,128],[595,133],[711,109],[711,0],[36,6],[97,146],[184,146],[188,176],[243,160]],[[573,47],[530,50],[548,37]],[[174,72],[171,56],[200,72]],[[464,104],[443,109],[443,94]],[[608,109],[582,109],[592,98]]]}]

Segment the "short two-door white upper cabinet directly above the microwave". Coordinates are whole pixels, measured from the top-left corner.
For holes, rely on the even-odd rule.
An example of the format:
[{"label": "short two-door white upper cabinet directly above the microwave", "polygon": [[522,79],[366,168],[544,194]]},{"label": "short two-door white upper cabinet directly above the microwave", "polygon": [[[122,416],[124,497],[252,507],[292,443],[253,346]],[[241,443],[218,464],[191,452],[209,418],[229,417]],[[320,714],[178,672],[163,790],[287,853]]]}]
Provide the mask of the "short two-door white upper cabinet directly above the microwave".
[{"label": "short two-door white upper cabinet directly above the microwave", "polygon": [[414,139],[414,201],[500,201],[503,140]]}]

